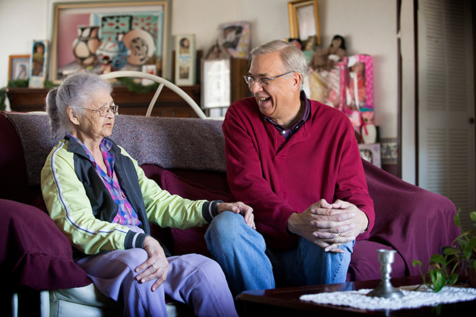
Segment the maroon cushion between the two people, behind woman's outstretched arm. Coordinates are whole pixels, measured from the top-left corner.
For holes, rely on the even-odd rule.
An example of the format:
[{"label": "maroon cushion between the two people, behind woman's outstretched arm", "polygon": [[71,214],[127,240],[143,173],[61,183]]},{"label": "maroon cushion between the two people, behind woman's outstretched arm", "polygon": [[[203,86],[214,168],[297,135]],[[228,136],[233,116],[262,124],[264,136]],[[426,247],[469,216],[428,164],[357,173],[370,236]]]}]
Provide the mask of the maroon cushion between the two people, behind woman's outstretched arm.
[{"label": "maroon cushion between the two people, behind woman's outstretched arm", "polygon": [[[161,175],[161,186],[170,194],[177,194],[191,200],[206,199],[208,201],[230,201],[230,194],[219,190],[210,190],[204,185],[192,183],[176,174],[164,170]],[[189,229],[171,229],[173,249],[172,254],[189,253],[202,254],[211,257],[206,247],[204,235],[208,225]]]}]

